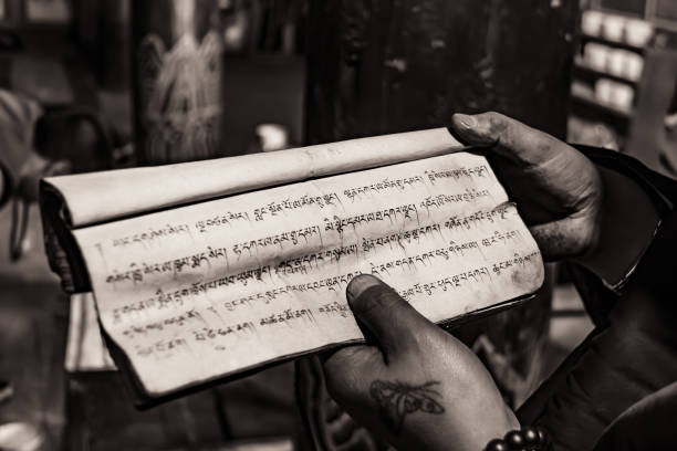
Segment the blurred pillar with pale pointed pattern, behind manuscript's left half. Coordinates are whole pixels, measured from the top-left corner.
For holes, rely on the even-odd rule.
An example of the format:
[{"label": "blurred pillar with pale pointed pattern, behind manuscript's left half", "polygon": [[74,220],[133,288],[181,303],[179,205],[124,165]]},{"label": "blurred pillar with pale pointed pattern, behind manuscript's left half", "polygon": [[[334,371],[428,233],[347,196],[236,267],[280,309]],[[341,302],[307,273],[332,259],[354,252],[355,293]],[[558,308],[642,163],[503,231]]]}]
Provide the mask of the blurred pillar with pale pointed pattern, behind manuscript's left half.
[{"label": "blurred pillar with pale pointed pattern, behind manuscript's left half", "polygon": [[221,156],[218,0],[133,2],[133,83],[140,164]]}]

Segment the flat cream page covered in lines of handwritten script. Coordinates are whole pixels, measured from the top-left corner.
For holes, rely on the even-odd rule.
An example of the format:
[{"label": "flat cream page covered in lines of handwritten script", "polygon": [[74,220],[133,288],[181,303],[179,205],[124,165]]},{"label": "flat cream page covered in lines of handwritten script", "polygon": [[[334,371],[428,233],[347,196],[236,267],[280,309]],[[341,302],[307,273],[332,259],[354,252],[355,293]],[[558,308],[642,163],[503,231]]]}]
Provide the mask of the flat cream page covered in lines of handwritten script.
[{"label": "flat cream page covered in lines of handwritten script", "polygon": [[535,291],[538,247],[487,160],[459,153],[74,231],[100,317],[162,395],[362,339],[375,274],[439,322]]}]

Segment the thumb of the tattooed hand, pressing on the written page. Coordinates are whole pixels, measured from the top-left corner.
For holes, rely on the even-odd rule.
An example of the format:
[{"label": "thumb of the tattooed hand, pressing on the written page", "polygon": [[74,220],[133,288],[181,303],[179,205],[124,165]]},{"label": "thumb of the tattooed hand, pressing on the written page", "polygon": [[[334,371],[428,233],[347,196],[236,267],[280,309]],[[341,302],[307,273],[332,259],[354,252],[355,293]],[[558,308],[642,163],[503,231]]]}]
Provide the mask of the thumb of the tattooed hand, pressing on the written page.
[{"label": "thumb of the tattooed hand, pressing on the written page", "polygon": [[347,286],[347,300],[353,314],[372,333],[386,358],[389,353],[416,344],[417,335],[434,327],[395,290],[373,275],[353,279]]}]

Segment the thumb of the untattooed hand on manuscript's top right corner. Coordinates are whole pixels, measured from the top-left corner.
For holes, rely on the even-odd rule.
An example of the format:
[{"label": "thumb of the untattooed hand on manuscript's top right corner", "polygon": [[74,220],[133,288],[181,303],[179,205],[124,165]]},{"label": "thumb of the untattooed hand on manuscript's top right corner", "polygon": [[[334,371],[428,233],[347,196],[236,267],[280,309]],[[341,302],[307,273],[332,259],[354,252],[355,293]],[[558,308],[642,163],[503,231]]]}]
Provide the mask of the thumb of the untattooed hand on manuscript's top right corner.
[{"label": "thumb of the untattooed hand on manuscript's top right corner", "polygon": [[493,147],[506,158],[530,165],[548,160],[553,153],[569,147],[559,139],[500,113],[490,112],[473,116],[455,114],[451,117],[451,127],[466,144]]}]

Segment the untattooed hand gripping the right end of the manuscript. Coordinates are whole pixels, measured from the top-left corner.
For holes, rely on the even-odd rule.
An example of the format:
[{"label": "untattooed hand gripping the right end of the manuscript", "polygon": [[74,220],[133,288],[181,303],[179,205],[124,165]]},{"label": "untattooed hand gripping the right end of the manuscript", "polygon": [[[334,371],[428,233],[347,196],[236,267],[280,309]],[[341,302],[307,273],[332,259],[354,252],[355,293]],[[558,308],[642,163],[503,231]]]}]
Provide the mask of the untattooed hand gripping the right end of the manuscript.
[{"label": "untattooed hand gripping the right end of the manuscript", "polygon": [[490,149],[487,158],[544,258],[581,258],[594,249],[603,183],[583,154],[498,113],[456,114],[452,127],[467,144]]}]

